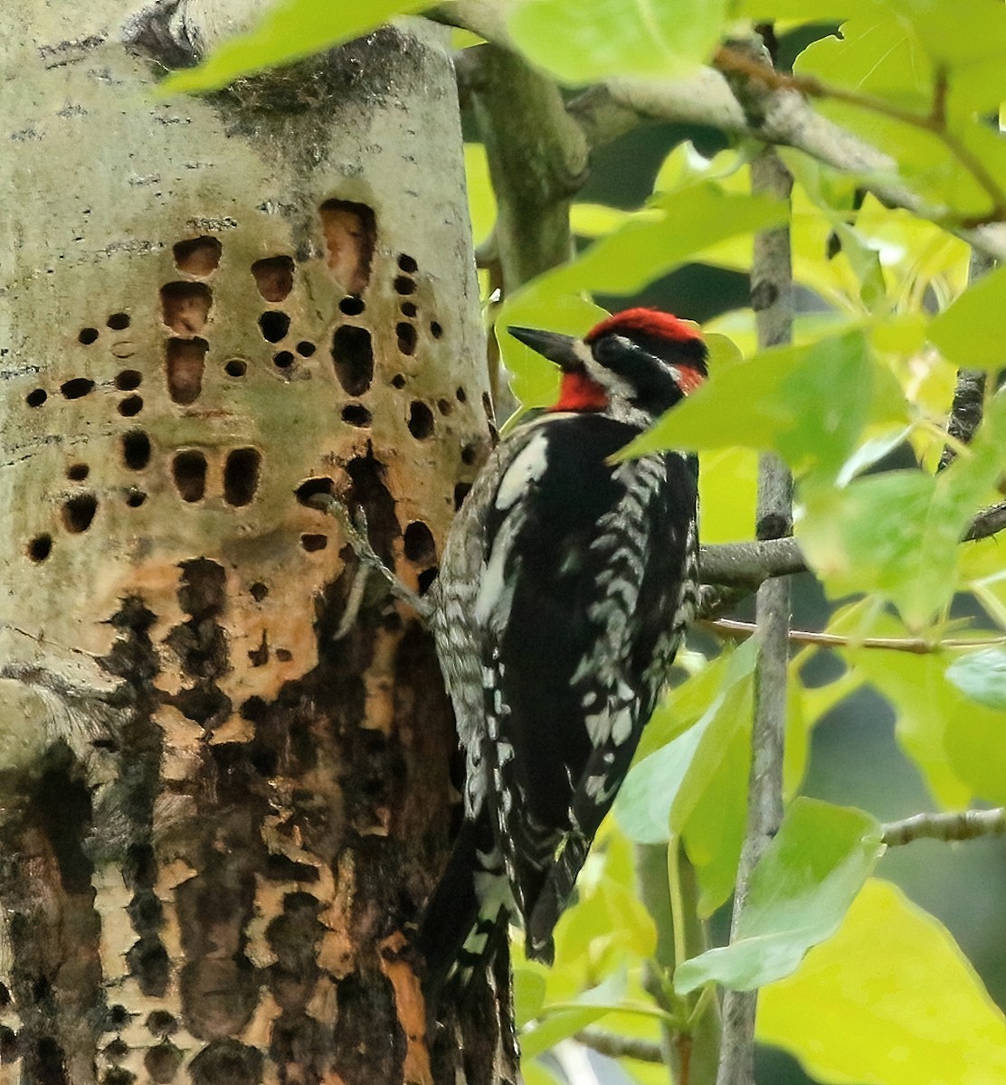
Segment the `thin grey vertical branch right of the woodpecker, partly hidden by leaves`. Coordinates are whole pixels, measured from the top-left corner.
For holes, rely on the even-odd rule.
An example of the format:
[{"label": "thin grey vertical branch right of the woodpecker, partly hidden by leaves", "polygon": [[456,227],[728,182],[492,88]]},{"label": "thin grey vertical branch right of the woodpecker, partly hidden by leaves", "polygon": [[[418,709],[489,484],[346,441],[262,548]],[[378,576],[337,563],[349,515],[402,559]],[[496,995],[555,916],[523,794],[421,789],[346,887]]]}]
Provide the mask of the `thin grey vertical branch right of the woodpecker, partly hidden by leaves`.
[{"label": "thin grey vertical branch right of the woodpecker, partly hidden by leaves", "polygon": [[[751,188],[789,200],[792,178],[781,159],[765,148],[751,163]],[[792,340],[792,263],[789,226],[763,230],[754,239],[751,306],[759,347]],[[760,540],[792,533],[792,477],[774,455],[759,465],[756,534]],[[754,669],[754,722],[748,827],[734,894],[730,939],[737,937],[752,872],[782,821],[782,753],[789,665],[789,580],[766,580],[757,590],[756,621],[762,642]],[[717,1085],[751,1085],[754,1081],[754,1016],[756,991],[726,991],[723,997],[723,1044]]]}]

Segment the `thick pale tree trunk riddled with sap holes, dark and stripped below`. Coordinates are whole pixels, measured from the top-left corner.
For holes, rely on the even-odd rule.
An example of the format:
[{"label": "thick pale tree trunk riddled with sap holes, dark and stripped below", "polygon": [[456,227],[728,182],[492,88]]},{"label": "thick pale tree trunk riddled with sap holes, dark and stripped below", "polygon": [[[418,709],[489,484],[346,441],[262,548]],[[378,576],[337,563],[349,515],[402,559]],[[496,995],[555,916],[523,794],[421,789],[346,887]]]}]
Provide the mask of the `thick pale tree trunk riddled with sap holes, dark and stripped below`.
[{"label": "thick pale tree trunk riddled with sap holes, dark and stripped below", "polygon": [[0,1073],[513,1081],[505,962],[428,1034],[409,952],[430,638],[309,505],[422,589],[488,447],[446,31],[155,99],[207,8],[0,10]]}]

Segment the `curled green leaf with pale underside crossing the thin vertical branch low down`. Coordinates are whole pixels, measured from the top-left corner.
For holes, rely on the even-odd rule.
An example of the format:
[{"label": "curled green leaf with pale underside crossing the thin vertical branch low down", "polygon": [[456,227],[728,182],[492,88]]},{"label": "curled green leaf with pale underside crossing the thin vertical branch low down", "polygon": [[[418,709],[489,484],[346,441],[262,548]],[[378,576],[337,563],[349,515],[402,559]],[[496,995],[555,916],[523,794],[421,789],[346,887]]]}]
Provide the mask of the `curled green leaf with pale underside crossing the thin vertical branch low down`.
[{"label": "curled green leaf with pale underside crossing the thin vertical branch low down", "polygon": [[675,990],[715,981],[751,991],[789,975],[838,930],[882,852],[868,814],[797,799],[751,876],[735,940],[678,966]]}]

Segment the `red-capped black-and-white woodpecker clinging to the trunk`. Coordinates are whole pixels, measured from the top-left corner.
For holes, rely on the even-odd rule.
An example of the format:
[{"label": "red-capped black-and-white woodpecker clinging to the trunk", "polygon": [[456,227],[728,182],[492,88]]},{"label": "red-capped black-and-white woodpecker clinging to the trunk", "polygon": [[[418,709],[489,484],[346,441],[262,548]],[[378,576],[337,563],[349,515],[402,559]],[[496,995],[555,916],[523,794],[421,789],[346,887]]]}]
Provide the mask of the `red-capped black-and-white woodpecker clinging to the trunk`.
[{"label": "red-capped black-and-white woodpecker clinging to the trunk", "polygon": [[431,996],[513,921],[552,961],[699,587],[697,458],[617,454],[704,384],[700,331],[651,308],[583,337],[508,331],[559,367],[560,393],[489,456],[431,589],[464,757],[461,829],[417,936]]}]

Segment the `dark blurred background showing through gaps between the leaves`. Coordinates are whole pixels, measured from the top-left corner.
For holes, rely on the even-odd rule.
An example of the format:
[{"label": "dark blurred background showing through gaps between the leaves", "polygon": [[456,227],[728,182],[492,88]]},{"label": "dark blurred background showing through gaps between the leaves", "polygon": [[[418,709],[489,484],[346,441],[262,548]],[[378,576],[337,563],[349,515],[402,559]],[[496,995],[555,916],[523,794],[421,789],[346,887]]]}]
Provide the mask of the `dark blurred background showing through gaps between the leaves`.
[{"label": "dark blurred background showing through gaps between the leaves", "polygon": [[[810,41],[835,30],[835,26],[801,27],[799,34],[780,38],[777,67],[790,69],[793,59]],[[477,136],[472,132],[469,138]],[[590,178],[578,201],[626,210],[639,208],[652,192],[664,158],[684,141],[690,141],[704,156],[712,156],[727,145],[722,133],[710,128],[661,124],[638,128],[594,155]],[[652,305],[706,322],[748,305],[748,278],[735,271],[689,265],[650,284],[635,297],[599,296],[596,301],[611,310]],[[802,289],[797,304],[803,310],[824,308],[818,298]],[[874,470],[914,464],[914,455],[905,447],[894,450]],[[1006,558],[1006,542],[1003,546]],[[958,600],[956,616],[972,612],[969,600]],[[824,629],[830,613],[831,604],[814,578],[808,574],[795,577],[793,627]],[[735,616],[750,621],[753,600]],[[709,644],[703,638],[703,650]],[[808,687],[824,685],[833,680],[842,667],[833,655],[817,652],[803,676]],[[828,802],[858,806],[883,821],[935,809],[919,773],[895,742],[894,725],[890,705],[870,687],[848,697],[813,732],[803,792]],[[948,928],[992,998],[1006,1007],[1003,917],[1006,840],[985,838],[963,844],[918,841],[888,852],[876,875],[897,883],[912,901]],[[714,918],[714,942],[728,941],[728,931],[729,906]],[[574,1085],[591,1077],[606,1083],[627,1080],[616,1062],[583,1048],[572,1050],[574,1046],[558,1051],[558,1059],[551,1063]],[[801,1085],[811,1081],[795,1060],[767,1047],[759,1049],[756,1074],[761,1085]]]}]

